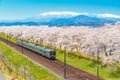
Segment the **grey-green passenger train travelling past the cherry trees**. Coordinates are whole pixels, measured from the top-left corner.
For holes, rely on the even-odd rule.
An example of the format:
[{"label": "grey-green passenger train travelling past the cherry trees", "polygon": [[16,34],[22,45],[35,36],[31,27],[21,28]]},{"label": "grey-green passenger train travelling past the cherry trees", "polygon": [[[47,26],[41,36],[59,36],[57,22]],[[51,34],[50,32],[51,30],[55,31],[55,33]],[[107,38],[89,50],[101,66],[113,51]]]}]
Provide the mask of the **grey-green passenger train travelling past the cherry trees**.
[{"label": "grey-green passenger train travelling past the cherry trees", "polygon": [[56,51],[49,49],[49,48],[45,48],[36,44],[32,44],[29,42],[26,42],[24,40],[17,40],[17,45],[22,46],[26,49],[29,49],[31,51],[37,52],[38,54],[47,57],[50,60],[55,60],[56,59]]}]

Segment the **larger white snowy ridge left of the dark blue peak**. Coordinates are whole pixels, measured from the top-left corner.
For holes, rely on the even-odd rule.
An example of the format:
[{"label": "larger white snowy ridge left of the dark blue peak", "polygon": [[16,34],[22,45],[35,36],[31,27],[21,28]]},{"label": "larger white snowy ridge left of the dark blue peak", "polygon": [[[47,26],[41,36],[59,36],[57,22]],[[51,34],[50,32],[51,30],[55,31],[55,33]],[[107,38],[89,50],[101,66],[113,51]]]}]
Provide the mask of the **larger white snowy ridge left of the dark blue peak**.
[{"label": "larger white snowy ridge left of the dark blue peak", "polygon": [[57,17],[72,17],[78,15],[88,15],[88,13],[65,11],[65,12],[45,12],[40,14],[40,16],[57,16]]}]

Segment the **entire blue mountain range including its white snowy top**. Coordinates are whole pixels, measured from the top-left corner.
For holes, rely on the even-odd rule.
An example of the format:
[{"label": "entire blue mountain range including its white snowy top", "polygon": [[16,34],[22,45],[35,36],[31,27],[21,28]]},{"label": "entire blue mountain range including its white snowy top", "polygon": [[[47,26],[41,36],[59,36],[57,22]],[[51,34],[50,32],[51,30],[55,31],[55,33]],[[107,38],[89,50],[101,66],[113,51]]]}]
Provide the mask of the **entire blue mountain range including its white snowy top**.
[{"label": "entire blue mountain range including its white snowy top", "polygon": [[103,26],[120,21],[120,16],[113,14],[88,14],[76,12],[45,12],[33,18],[0,22],[0,26],[11,25],[48,25],[48,26]]}]

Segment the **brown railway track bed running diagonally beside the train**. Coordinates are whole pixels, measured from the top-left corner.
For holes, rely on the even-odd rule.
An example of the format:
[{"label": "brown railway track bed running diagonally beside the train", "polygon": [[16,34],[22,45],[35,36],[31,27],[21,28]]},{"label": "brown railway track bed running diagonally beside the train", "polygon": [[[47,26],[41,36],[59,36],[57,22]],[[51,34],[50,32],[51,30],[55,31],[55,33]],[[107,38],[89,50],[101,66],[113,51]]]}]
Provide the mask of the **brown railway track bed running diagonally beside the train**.
[{"label": "brown railway track bed running diagonally beside the train", "polygon": [[[29,57],[33,61],[37,62],[40,65],[43,65],[47,69],[51,70],[55,74],[64,77],[64,63],[59,60],[49,60],[47,58],[44,58],[43,56],[39,56],[39,54],[30,51],[28,49],[25,49],[21,46],[18,46],[16,43],[13,43],[11,41],[8,41],[6,39],[3,39],[0,37],[0,41],[8,44],[9,46],[13,47],[20,53],[24,54],[25,56]],[[77,69],[71,65],[66,65],[66,80],[104,80],[100,77],[97,77],[95,75],[92,75],[88,72],[85,72],[83,70]]]}]

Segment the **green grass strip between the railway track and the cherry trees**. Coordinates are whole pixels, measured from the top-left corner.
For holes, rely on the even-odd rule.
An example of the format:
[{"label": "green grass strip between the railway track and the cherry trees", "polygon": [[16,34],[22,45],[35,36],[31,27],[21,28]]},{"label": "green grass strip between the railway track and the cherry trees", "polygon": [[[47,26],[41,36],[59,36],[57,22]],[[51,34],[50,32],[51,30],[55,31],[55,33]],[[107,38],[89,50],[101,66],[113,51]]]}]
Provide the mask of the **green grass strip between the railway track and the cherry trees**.
[{"label": "green grass strip between the railway track and the cherry trees", "polygon": [[[13,40],[12,40],[13,39]],[[14,38],[11,38],[14,41]],[[15,42],[15,41],[14,41]],[[64,52],[57,50],[57,59],[64,60]],[[84,71],[97,75],[97,62],[67,54],[67,63]],[[120,69],[115,66],[99,64],[99,76],[106,80],[120,80]]]}]

